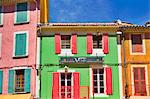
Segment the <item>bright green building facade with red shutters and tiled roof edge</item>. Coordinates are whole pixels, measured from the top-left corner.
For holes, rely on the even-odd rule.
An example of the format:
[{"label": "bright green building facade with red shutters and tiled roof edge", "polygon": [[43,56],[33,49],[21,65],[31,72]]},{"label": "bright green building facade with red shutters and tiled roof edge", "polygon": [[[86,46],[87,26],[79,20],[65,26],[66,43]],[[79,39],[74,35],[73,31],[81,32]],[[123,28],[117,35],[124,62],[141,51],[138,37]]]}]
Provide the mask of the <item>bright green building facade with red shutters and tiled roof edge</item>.
[{"label": "bright green building facade with red shutters and tiled roof edge", "polygon": [[119,99],[116,31],[115,23],[41,26],[41,99]]}]

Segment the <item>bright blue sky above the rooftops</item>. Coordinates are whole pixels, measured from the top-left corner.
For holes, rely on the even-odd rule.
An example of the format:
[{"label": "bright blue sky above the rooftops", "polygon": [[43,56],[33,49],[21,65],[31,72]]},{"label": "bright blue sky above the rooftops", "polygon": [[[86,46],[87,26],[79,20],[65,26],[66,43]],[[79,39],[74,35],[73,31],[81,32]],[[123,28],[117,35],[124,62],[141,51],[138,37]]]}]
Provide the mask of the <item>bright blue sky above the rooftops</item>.
[{"label": "bright blue sky above the rooftops", "polygon": [[49,0],[49,22],[150,21],[150,0]]}]

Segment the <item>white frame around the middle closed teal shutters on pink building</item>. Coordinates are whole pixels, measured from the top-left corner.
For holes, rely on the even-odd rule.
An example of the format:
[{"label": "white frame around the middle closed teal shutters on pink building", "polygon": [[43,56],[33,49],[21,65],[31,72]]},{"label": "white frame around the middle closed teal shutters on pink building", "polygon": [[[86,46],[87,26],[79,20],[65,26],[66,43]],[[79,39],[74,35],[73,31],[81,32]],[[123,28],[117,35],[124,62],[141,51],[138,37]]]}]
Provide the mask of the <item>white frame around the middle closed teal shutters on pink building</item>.
[{"label": "white frame around the middle closed teal shutters on pink building", "polygon": [[[16,56],[15,55],[15,51],[16,51],[16,35],[17,34],[24,34],[26,33],[26,54],[25,55],[19,55],[19,56]],[[14,58],[19,58],[19,57],[26,57],[28,56],[28,46],[29,46],[29,31],[18,31],[18,32],[14,32],[14,40],[13,40],[13,57]]]}]

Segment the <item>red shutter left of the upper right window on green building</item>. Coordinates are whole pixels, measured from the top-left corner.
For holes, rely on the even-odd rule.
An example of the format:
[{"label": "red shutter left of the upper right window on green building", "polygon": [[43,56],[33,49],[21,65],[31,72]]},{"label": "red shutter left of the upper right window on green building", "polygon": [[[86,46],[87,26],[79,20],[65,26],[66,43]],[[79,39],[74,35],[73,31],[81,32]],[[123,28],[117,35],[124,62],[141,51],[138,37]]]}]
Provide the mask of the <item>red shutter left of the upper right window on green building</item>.
[{"label": "red shutter left of the upper right window on green building", "polygon": [[92,54],[93,51],[93,37],[92,34],[87,35],[87,53]]}]

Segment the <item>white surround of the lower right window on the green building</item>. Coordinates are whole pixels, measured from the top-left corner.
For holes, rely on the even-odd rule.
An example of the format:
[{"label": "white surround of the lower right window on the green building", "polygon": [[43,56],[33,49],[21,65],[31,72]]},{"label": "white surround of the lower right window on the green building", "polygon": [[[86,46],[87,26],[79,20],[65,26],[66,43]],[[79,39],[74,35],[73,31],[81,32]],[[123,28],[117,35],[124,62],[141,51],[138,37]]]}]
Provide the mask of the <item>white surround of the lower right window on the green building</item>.
[{"label": "white surround of the lower right window on the green building", "polygon": [[[91,65],[91,68],[90,69],[90,96],[91,97],[108,97],[107,93],[106,93],[106,68],[107,66],[106,65]],[[104,69],[104,93],[93,93],[93,69]]]}]

